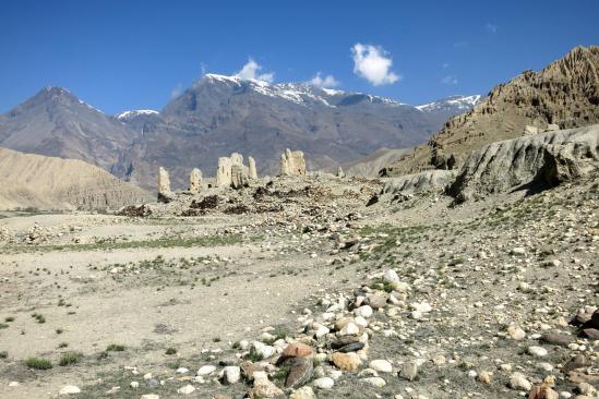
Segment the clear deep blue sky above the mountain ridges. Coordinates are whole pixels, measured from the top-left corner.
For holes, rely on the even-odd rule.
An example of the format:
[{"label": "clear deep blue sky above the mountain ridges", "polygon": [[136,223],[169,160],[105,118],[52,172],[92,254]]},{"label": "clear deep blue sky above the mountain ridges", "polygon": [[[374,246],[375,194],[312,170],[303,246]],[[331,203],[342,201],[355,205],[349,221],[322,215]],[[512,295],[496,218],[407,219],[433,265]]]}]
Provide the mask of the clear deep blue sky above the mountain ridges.
[{"label": "clear deep blue sky above the mountain ridges", "polygon": [[321,72],[321,84],[415,105],[486,94],[599,45],[598,15],[597,0],[3,1],[0,112],[48,85],[108,113],[161,109],[203,72],[250,58],[275,83]]}]

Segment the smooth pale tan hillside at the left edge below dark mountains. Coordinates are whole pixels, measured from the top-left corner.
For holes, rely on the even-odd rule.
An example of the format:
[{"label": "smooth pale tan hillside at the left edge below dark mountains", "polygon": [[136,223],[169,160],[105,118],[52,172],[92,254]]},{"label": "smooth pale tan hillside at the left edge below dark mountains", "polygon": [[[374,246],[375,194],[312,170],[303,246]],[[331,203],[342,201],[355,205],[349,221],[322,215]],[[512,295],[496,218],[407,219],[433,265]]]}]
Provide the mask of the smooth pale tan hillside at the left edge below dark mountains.
[{"label": "smooth pale tan hillside at the left edge below dark mountains", "polygon": [[0,209],[119,208],[147,200],[143,190],[82,160],[0,148]]}]

